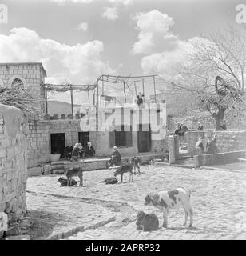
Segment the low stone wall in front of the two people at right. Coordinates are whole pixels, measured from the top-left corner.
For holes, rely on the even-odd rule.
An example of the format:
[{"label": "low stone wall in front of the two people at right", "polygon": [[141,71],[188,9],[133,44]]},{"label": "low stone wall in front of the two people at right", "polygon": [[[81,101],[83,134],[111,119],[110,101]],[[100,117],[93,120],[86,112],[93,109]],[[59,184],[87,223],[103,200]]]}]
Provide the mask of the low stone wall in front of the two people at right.
[{"label": "low stone wall in front of the two people at right", "polygon": [[200,166],[214,166],[220,164],[227,164],[230,162],[238,162],[238,158],[245,158],[245,154],[246,150],[218,154],[195,155],[195,168]]}]

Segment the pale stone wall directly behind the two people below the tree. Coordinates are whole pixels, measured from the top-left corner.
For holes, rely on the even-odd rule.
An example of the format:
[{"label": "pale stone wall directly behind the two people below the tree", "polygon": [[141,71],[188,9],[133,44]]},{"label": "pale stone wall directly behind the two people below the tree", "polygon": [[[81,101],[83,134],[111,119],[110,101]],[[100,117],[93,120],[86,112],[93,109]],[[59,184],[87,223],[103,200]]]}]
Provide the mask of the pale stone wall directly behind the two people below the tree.
[{"label": "pale stone wall directly behind the two people below the tree", "polygon": [[230,152],[236,150],[246,149],[246,130],[204,130],[204,131],[188,131],[188,153],[191,155],[196,154],[196,142],[198,138],[204,138],[204,148],[208,137],[216,135],[216,146],[218,153]]}]

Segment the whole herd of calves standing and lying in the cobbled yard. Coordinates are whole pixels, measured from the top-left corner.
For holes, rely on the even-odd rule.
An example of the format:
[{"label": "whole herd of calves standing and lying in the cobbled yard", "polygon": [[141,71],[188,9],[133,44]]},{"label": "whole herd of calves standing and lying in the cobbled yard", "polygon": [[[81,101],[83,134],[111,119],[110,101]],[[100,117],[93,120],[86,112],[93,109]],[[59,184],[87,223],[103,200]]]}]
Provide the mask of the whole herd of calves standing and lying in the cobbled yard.
[{"label": "whole herd of calves standing and lying in the cobbled yard", "polygon": [[[121,182],[123,182],[123,175],[125,173],[129,174],[129,182],[133,182],[133,174],[140,174],[141,159],[133,157],[126,164],[121,166],[114,166],[116,170],[114,171],[114,176],[110,178],[105,178],[101,182],[105,184],[117,184],[117,176],[120,175]],[[79,178],[79,186],[83,186],[83,170],[81,167],[75,167],[68,170],[66,173],[66,179],[60,177],[58,182],[61,186],[73,186],[77,185],[77,181],[73,177]],[[190,222],[189,227],[192,226],[192,206],[190,205],[191,191],[185,188],[177,188],[175,190],[160,191],[158,193],[151,193],[145,197],[145,206],[154,206],[161,210],[163,213],[163,227],[168,225],[168,212],[170,209],[183,208],[185,211],[185,223],[186,226],[187,219],[189,216]],[[139,211],[137,214],[137,230],[152,231],[159,229],[159,220],[155,214],[145,214],[143,211]]]}]

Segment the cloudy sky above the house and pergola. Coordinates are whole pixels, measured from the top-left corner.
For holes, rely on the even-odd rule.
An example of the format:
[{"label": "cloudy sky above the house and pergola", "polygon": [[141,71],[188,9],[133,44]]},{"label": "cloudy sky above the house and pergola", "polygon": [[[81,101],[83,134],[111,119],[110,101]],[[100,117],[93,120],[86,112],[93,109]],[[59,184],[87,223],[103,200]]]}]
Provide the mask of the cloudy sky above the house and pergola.
[{"label": "cloudy sky above the house and pergola", "polygon": [[[0,0],[0,4],[8,8],[7,23],[0,23],[0,62],[42,62],[46,82],[86,84],[101,74],[169,74],[191,50],[190,42],[204,40],[205,34],[223,30],[228,22],[245,26],[236,23],[236,6],[246,1]],[[112,87],[108,94],[113,94]],[[68,102],[65,97],[60,99]]]}]

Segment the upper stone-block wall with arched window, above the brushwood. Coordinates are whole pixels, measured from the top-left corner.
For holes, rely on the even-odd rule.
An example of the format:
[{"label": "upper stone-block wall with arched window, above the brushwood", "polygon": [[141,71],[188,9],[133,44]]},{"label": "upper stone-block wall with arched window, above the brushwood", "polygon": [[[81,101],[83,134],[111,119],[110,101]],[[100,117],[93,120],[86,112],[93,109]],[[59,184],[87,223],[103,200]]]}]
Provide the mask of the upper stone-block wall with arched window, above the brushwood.
[{"label": "upper stone-block wall with arched window, above the brushwood", "polygon": [[32,119],[43,118],[46,114],[46,93],[41,84],[46,77],[42,63],[0,63],[2,85],[11,87],[15,78],[22,80],[24,89],[37,99],[38,114]]}]

